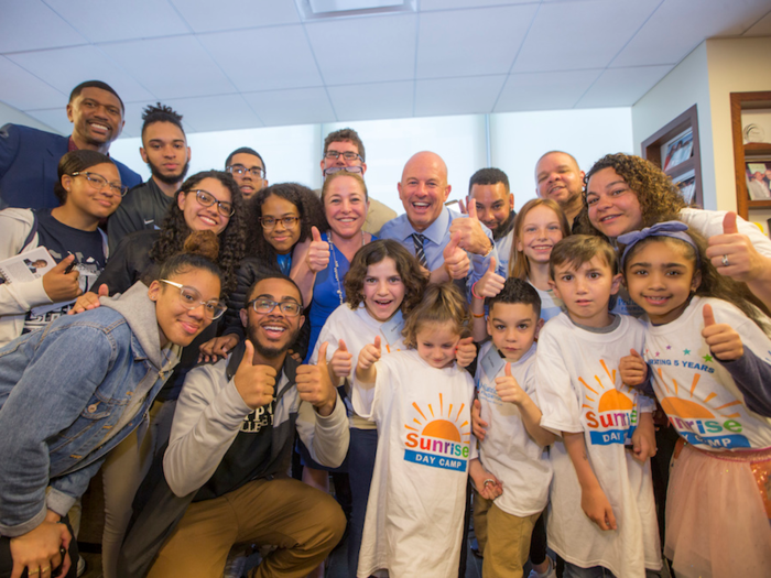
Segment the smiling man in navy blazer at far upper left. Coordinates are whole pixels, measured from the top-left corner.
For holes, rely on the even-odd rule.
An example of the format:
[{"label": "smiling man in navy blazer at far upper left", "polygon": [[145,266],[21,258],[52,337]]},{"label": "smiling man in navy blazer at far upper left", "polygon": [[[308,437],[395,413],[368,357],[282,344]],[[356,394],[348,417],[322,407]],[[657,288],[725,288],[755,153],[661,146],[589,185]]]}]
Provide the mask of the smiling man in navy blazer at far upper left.
[{"label": "smiling man in navy blazer at far upper left", "polygon": [[[0,209],[46,209],[58,206],[54,195],[59,159],[69,151],[90,149],[108,154],[110,143],[123,130],[123,101],[108,84],[88,80],[69,95],[67,118],[73,133],[62,137],[21,124],[0,128]],[[115,161],[115,160],[113,160]],[[142,178],[115,161],[123,185]]]}]

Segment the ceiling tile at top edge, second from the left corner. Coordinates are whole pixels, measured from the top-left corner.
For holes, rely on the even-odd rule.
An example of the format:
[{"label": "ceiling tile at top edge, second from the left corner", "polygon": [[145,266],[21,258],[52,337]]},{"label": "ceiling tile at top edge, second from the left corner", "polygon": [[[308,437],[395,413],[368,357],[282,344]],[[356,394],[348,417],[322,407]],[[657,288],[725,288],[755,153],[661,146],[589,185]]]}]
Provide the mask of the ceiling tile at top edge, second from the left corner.
[{"label": "ceiling tile at top edge, second from the left corner", "polygon": [[91,42],[189,33],[174,8],[159,0],[46,0],[56,13]]}]

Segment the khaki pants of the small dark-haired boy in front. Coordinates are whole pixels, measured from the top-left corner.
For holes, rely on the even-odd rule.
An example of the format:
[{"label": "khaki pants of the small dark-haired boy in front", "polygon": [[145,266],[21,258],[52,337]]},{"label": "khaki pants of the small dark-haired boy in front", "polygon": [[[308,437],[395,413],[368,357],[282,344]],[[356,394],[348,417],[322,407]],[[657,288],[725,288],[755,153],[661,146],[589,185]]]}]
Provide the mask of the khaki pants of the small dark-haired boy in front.
[{"label": "khaki pants of the small dark-haired boy in front", "polygon": [[485,557],[485,578],[522,576],[528,561],[530,536],[541,512],[519,517],[507,514],[491,500],[474,491],[474,533]]}]

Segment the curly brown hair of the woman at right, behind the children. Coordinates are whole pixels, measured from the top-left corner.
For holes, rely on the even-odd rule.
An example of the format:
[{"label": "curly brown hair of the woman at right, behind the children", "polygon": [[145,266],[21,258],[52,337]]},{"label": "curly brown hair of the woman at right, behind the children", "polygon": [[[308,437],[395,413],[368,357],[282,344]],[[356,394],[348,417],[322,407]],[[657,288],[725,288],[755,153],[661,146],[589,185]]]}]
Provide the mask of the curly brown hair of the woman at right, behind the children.
[{"label": "curly brown hair of the woman at right, behind the children", "polygon": [[586,195],[589,179],[604,168],[612,168],[632,189],[640,203],[641,227],[650,227],[662,221],[665,215],[674,215],[687,204],[672,179],[656,165],[631,154],[606,154],[595,163],[584,177],[584,208],[576,217],[576,232],[585,235],[602,233],[589,221]]}]

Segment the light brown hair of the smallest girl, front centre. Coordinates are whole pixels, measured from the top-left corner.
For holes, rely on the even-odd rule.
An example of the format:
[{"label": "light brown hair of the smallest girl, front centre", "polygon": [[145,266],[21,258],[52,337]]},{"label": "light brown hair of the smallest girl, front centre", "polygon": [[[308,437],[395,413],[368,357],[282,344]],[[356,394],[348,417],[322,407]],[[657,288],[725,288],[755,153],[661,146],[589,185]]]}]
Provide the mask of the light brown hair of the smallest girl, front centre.
[{"label": "light brown hair of the smallest girl, front centre", "polygon": [[404,345],[411,349],[417,347],[417,331],[427,324],[452,323],[455,331],[465,337],[469,334],[470,321],[471,309],[455,283],[428,285],[423,298],[404,321]]}]

